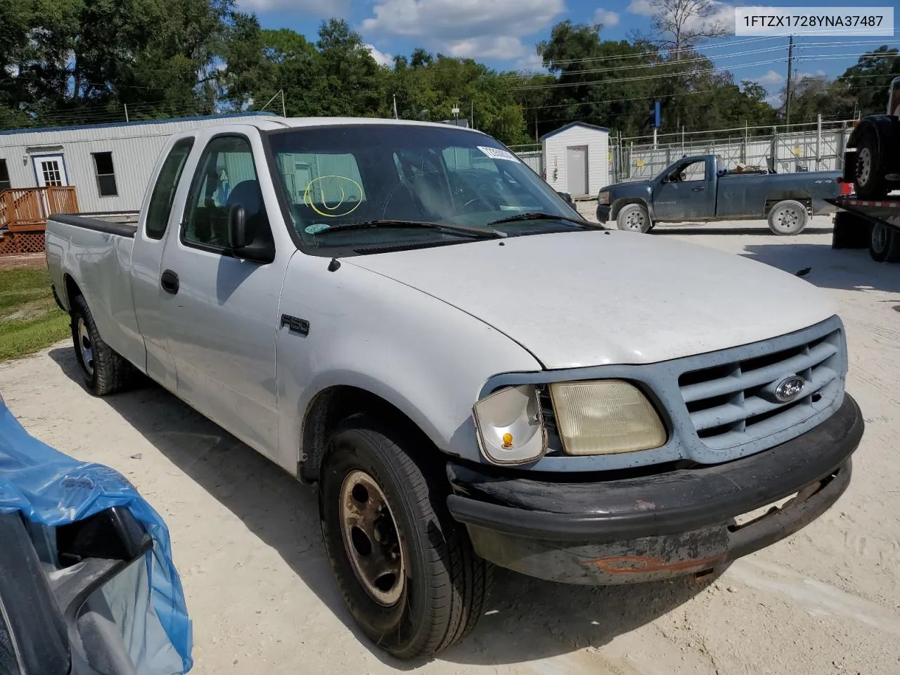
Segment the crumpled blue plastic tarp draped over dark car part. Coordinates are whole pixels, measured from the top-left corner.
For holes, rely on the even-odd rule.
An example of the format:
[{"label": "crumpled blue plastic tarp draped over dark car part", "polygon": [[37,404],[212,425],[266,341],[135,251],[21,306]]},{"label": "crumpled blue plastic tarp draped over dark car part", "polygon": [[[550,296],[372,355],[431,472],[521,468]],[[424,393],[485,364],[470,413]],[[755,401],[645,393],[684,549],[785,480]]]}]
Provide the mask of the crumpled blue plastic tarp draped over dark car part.
[{"label": "crumpled blue plastic tarp draped over dark car part", "polygon": [[[140,614],[125,617],[132,658],[139,672],[185,673],[193,665],[193,631],[166,523],[120,473],[79,462],[29,436],[0,399],[0,510],[58,527],[110,507],[129,509],[153,538],[146,574],[132,575],[146,587],[139,595],[149,599],[128,603],[132,615]],[[142,626],[140,635],[133,635],[135,625]],[[180,670],[172,670],[179,660]]]}]

